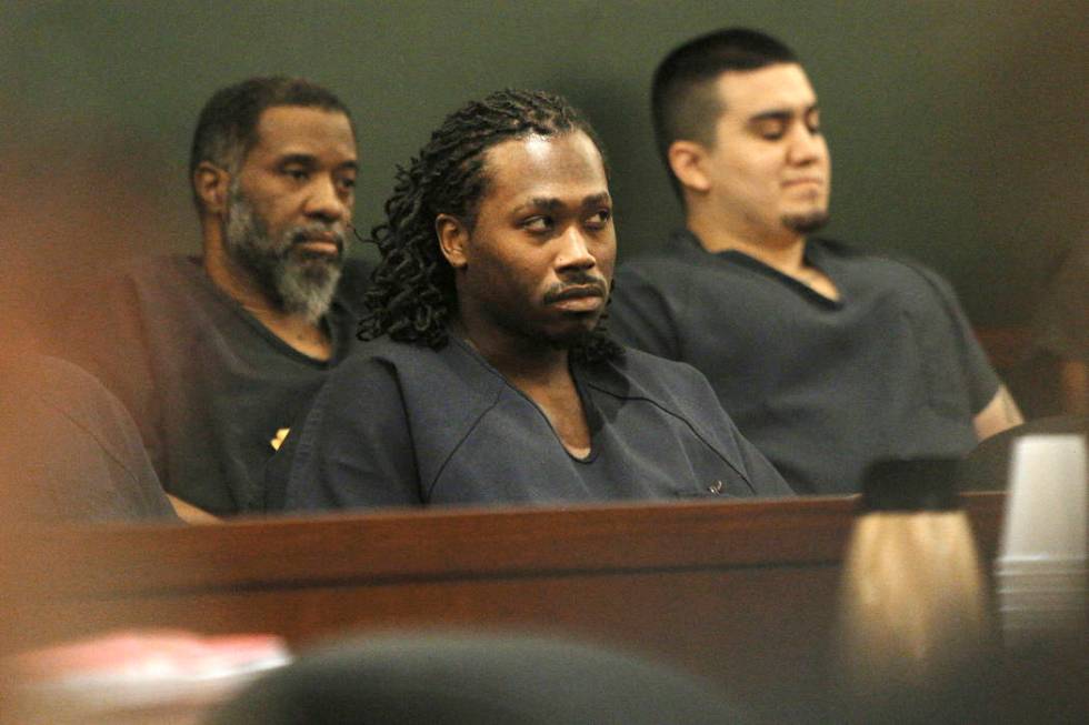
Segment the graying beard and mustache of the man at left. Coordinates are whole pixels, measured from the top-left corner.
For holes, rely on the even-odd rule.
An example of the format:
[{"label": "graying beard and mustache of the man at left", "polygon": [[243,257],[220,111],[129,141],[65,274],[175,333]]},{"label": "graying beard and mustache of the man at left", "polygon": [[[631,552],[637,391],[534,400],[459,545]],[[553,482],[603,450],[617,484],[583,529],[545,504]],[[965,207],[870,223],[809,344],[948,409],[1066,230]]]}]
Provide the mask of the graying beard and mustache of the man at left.
[{"label": "graying beard and mustache of the man at left", "polygon": [[[340,242],[336,259],[306,254],[294,246],[297,239],[311,233],[332,232]],[[231,184],[223,241],[228,256],[250,273],[261,292],[280,310],[302,315],[317,324],[329,311],[343,268],[343,234],[329,224],[314,222],[284,230],[279,239],[250,205],[246,195]]]}]

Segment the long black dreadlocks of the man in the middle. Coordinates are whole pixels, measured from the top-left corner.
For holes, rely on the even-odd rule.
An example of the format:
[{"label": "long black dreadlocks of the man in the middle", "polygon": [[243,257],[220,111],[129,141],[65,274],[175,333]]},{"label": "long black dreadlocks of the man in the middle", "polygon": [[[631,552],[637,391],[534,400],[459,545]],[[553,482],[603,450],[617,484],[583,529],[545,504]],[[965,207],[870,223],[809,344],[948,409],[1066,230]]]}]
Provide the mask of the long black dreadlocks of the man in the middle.
[{"label": "long black dreadlocks of the man in the middle", "polygon": [[[491,147],[528,135],[578,131],[590,138],[603,162],[593,129],[559,95],[508,89],[448,115],[409,168],[398,167],[393,194],[386,201],[386,222],[371,230],[370,241],[381,261],[364,294],[368,313],[360,322],[359,339],[384,334],[432,350],[443,348],[458,294],[453,268],[439,249],[436,218],[450,214],[472,230],[488,191],[484,153]],[[589,363],[621,352],[600,323],[571,349],[576,360]]]}]

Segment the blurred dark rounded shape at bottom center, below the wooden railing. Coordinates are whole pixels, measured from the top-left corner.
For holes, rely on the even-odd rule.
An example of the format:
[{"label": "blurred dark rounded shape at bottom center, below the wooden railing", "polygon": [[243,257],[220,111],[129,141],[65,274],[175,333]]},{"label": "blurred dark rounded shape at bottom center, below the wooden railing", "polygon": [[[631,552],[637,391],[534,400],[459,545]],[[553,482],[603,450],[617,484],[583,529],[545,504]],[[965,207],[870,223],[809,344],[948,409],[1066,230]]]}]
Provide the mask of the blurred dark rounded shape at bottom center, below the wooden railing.
[{"label": "blurred dark rounded shape at bottom center, below the wooden railing", "polygon": [[700,679],[640,657],[520,634],[349,641],[247,688],[212,725],[721,725],[748,722]]}]

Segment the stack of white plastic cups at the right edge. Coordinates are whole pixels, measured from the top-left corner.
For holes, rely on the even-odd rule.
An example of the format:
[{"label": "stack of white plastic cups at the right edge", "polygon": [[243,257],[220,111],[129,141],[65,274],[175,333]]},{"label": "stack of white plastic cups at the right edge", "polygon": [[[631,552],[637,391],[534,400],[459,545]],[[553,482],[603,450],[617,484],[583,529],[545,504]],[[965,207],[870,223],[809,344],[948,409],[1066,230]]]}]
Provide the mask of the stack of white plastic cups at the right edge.
[{"label": "stack of white plastic cups at the right edge", "polygon": [[1080,435],[1027,435],[1015,443],[995,565],[1007,645],[1085,635],[1086,459]]}]

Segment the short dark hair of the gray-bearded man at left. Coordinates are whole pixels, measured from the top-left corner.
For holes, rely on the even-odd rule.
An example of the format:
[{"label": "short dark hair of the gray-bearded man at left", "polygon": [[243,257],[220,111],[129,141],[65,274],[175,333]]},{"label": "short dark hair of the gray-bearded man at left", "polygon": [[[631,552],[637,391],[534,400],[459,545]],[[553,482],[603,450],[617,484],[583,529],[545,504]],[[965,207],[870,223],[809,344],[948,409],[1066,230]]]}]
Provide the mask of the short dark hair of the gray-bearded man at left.
[{"label": "short dark hair of the gray-bearded man at left", "polygon": [[[343,113],[348,108],[331,91],[302,78],[250,78],[216,91],[200,111],[189,152],[189,178],[202,161],[237,172],[258,141],[257,124],[266,109],[302,105]],[[352,125],[352,133],[354,133]],[[196,198],[196,194],[194,194]],[[198,209],[201,201],[196,198]]]}]

